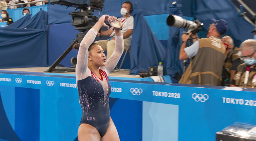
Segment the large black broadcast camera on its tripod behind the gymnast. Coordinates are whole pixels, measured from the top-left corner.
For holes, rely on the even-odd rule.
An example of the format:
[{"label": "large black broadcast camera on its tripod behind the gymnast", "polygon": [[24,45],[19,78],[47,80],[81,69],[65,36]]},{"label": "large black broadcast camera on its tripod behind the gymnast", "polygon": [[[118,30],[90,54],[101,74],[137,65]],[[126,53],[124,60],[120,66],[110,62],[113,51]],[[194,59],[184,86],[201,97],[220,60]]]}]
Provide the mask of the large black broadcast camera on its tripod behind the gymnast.
[{"label": "large black broadcast camera on its tripod behind the gymnast", "polygon": [[[60,4],[66,6],[76,7],[75,10],[80,9],[79,11],[73,11],[69,13],[72,16],[72,25],[75,26],[75,30],[80,31],[81,33],[76,34],[76,39],[71,42],[71,45],[68,49],[50,66],[50,68],[45,72],[75,72],[75,65],[73,68],[58,67],[55,68],[72,50],[74,44],[80,43],[84,36],[85,32],[91,29],[98,21],[97,16],[93,16],[94,10],[101,11],[103,8],[104,0],[49,0],[51,4]],[[73,58],[72,58],[73,59]],[[71,59],[71,62],[74,60]]]}]

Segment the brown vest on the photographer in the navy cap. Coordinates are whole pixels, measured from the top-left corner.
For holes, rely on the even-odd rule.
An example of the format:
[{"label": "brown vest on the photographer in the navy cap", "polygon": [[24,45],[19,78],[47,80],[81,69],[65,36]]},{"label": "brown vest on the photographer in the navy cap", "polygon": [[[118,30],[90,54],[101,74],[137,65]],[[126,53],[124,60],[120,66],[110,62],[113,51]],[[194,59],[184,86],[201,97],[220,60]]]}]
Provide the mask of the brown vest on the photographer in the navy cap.
[{"label": "brown vest on the photographer in the navy cap", "polygon": [[191,59],[179,83],[197,85],[221,85],[225,47],[220,38],[199,39],[199,50]]}]

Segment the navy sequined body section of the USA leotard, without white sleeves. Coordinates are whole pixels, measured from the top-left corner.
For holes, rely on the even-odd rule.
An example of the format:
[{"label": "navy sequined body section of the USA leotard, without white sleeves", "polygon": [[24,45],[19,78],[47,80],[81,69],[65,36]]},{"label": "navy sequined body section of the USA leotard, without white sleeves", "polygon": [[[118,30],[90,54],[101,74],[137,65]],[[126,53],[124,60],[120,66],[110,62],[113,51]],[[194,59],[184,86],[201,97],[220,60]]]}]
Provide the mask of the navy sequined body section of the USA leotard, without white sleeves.
[{"label": "navy sequined body section of the USA leotard, without white sleeves", "polygon": [[104,96],[101,84],[93,77],[87,77],[77,81],[79,102],[83,114],[80,125],[85,123],[95,127],[103,137],[109,124],[108,100],[111,86],[108,82],[108,93]]}]

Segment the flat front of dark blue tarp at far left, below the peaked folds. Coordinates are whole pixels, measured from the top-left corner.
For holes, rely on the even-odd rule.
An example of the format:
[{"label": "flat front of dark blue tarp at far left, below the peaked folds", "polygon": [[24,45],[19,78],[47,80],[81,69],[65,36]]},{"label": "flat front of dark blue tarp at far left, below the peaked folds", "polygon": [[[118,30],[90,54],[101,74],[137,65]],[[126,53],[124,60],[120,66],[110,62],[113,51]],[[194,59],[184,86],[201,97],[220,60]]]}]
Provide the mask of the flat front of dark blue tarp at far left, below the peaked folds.
[{"label": "flat front of dark blue tarp at far left, below the peaked folds", "polygon": [[46,30],[0,28],[0,68],[47,66]]}]

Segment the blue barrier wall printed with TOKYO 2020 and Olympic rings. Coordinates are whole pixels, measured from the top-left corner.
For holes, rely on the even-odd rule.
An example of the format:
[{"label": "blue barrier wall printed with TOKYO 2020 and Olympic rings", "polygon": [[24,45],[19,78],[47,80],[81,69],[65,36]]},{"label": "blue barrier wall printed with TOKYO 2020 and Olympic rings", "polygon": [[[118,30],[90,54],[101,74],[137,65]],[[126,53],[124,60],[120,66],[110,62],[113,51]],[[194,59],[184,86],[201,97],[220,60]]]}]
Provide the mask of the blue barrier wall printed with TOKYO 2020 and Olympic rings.
[{"label": "blue barrier wall printed with TOKYO 2020 and Olympic rings", "polygon": [[[235,122],[256,124],[255,89],[125,81],[114,77],[109,81],[110,115],[122,141],[215,141],[216,132]],[[76,139],[82,110],[74,76],[1,72],[0,94],[9,121],[9,126],[0,123],[0,127],[12,128],[21,140]],[[33,116],[33,120],[21,119],[17,112],[21,108],[16,103],[24,101],[27,106],[22,107],[22,114]],[[4,115],[0,116],[1,119]],[[29,125],[38,121],[39,127],[31,125],[26,131],[19,130],[21,122]],[[1,134],[0,139],[8,140]]]}]

